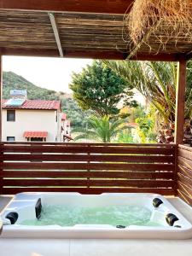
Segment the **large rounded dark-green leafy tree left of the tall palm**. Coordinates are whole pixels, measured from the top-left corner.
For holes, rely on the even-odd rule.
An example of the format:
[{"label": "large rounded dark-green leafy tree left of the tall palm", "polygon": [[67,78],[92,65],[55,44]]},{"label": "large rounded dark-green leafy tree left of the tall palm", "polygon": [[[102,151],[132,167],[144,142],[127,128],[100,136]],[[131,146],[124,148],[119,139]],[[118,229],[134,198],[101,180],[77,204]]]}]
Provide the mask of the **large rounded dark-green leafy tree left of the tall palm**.
[{"label": "large rounded dark-green leafy tree left of the tall palm", "polygon": [[81,73],[73,73],[70,89],[73,98],[83,110],[92,109],[100,116],[117,114],[119,101],[124,97],[126,104],[137,105],[131,101],[131,87],[125,79],[114,73],[102,61],[93,61]]}]

